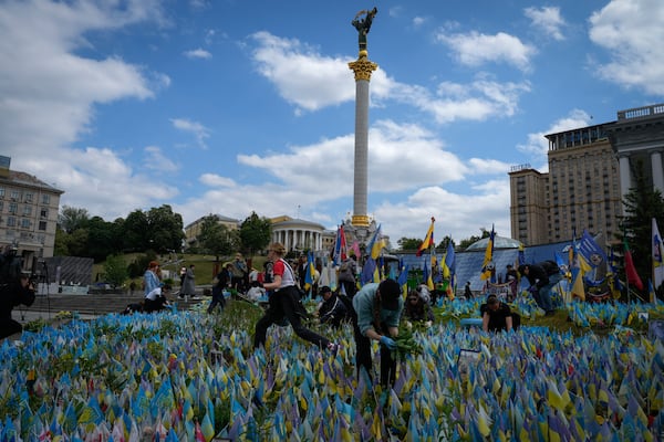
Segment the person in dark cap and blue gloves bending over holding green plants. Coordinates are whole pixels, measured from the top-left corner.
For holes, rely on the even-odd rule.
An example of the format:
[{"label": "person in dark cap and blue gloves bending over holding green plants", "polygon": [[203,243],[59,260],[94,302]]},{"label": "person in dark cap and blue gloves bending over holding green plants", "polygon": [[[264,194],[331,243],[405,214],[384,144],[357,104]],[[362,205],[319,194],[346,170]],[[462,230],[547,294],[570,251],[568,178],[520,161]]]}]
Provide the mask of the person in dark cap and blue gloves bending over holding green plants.
[{"label": "person in dark cap and blue gloves bending over holding green plants", "polygon": [[394,280],[365,284],[353,296],[353,329],[355,335],[355,365],[357,376],[362,368],[371,378],[371,341],[381,345],[381,385],[393,386],[396,380],[396,360],[392,350],[396,349],[394,338],[398,336],[398,324],[404,308],[402,290]]}]

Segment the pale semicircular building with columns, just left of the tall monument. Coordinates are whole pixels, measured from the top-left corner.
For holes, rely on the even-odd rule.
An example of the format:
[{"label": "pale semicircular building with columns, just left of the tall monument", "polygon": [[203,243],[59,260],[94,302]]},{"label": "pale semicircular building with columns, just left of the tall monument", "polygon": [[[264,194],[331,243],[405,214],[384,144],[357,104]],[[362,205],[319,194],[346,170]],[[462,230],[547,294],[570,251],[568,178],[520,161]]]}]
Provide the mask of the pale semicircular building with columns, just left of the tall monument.
[{"label": "pale semicircular building with columns, just left of the tall monument", "polygon": [[[325,228],[319,223],[293,219],[288,215],[273,218],[272,241],[280,242],[287,252],[324,249]],[[328,235],[329,236],[329,233]]]}]

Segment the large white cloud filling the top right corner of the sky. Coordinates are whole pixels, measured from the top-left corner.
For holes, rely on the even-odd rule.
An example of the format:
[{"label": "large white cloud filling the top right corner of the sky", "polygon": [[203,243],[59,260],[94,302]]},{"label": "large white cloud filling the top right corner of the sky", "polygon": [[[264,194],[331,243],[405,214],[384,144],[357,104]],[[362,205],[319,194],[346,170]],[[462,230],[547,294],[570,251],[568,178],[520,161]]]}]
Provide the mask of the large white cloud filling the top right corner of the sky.
[{"label": "large white cloud filling the top right corner of the sky", "polygon": [[601,78],[664,95],[664,2],[613,0],[589,21],[590,39],[611,57],[592,66]]}]

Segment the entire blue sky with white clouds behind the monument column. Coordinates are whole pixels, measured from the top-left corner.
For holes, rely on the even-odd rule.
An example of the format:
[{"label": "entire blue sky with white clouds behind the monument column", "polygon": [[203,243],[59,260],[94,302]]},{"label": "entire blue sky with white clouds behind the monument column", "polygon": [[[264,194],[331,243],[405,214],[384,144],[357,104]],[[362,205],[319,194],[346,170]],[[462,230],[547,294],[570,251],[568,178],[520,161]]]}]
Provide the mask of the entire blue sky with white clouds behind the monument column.
[{"label": "entire blue sky with white clouds behind the monument column", "polygon": [[353,210],[357,57],[369,34],[369,214],[394,244],[510,235],[511,166],[543,135],[664,102],[664,2],[0,2],[0,154],[107,221],[164,203]]}]

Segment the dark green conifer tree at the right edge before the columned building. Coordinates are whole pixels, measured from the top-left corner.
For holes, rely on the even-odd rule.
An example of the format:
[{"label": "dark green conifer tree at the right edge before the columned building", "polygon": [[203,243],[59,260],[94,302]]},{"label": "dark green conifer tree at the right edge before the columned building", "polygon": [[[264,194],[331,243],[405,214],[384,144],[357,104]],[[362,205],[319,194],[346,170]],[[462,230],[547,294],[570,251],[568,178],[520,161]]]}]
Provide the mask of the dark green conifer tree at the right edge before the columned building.
[{"label": "dark green conifer tree at the right edge before the columned building", "polygon": [[[657,227],[663,225],[664,199],[645,176],[643,161],[637,161],[632,172],[634,187],[630,188],[623,198],[625,214],[622,217],[621,223],[630,244],[636,272],[644,285],[647,285],[647,280],[652,278],[652,219],[657,220]],[[622,241],[622,236],[616,236]]]}]

